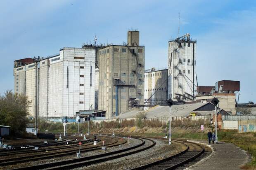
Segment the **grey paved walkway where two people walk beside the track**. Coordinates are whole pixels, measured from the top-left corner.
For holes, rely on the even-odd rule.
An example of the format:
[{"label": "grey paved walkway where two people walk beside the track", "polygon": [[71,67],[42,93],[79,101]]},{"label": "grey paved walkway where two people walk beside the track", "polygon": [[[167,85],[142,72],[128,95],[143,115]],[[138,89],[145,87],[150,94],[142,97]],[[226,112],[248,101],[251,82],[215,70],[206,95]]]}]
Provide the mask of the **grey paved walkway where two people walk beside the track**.
[{"label": "grey paved walkway where two people walk beside the track", "polygon": [[[207,141],[203,143],[208,144]],[[210,145],[212,154],[186,170],[241,170],[240,167],[251,160],[246,151],[234,144],[219,142]]]}]

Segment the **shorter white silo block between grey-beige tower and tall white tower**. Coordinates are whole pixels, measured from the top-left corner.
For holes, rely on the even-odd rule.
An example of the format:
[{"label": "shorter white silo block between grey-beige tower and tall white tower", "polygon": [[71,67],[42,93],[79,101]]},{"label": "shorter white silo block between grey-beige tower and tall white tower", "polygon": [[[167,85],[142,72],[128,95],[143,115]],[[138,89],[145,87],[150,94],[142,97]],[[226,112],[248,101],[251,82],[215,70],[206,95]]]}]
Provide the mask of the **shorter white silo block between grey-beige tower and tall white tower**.
[{"label": "shorter white silo block between grey-beige tower and tall white tower", "polygon": [[168,69],[145,70],[145,105],[159,105],[167,100]]}]

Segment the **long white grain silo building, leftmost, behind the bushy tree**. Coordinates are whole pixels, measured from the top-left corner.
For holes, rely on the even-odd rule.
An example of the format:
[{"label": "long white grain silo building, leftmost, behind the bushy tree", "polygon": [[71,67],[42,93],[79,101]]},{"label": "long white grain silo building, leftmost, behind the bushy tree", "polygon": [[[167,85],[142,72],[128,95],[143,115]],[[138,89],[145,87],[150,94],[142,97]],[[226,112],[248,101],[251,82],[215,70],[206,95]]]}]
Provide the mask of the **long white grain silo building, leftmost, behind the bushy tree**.
[{"label": "long white grain silo building, leftmost, behind the bushy tree", "polygon": [[46,58],[14,61],[14,91],[28,96],[31,116],[72,117],[95,107],[95,49],[67,48]]}]

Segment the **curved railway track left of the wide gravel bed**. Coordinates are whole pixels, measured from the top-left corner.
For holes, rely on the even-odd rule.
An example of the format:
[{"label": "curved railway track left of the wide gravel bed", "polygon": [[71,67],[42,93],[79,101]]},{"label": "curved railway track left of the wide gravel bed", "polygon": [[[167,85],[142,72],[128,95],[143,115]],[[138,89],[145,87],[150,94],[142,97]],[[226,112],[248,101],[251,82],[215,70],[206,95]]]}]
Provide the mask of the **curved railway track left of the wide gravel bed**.
[{"label": "curved railway track left of the wide gravel bed", "polygon": [[[47,164],[41,164],[41,165],[34,165],[34,166],[28,166],[23,168],[16,168],[13,170],[39,170],[39,169],[47,169],[47,170],[63,170],[63,169],[72,169],[72,168],[78,168],[81,166],[87,166],[92,165],[95,163],[100,163],[104,161],[109,161],[116,158],[121,158],[123,156],[128,156],[131,154],[135,154],[141,151],[145,151],[146,149],[149,149],[151,147],[154,147],[156,144],[154,140],[147,139],[147,138],[137,138],[137,140],[140,140],[140,144],[137,144],[133,147],[128,147],[125,149],[120,149],[117,151],[111,151],[104,154],[98,154],[93,156],[87,156],[83,158],[76,158],[66,161],[58,161],[54,163],[47,163]],[[145,146],[145,143],[147,142],[148,146]]]}]

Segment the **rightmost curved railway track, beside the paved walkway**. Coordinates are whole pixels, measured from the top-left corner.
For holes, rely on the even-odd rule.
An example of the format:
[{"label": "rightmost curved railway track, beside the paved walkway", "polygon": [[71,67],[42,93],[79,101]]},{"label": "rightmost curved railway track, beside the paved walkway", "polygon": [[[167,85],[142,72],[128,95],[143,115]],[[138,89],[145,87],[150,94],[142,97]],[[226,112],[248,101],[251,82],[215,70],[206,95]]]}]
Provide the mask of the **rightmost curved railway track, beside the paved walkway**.
[{"label": "rightmost curved railway track, beside the paved walkway", "polygon": [[[164,140],[163,138],[155,138]],[[149,163],[147,165],[142,165],[137,168],[133,168],[130,170],[174,170],[176,168],[180,168],[185,164],[193,161],[194,159],[201,156],[204,153],[204,147],[199,144],[195,144],[192,142],[187,142],[183,140],[173,140],[175,142],[179,142],[185,144],[186,149],[175,154],[173,156],[169,156],[167,158],[161,159],[159,161],[155,161]]]}]

